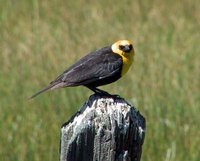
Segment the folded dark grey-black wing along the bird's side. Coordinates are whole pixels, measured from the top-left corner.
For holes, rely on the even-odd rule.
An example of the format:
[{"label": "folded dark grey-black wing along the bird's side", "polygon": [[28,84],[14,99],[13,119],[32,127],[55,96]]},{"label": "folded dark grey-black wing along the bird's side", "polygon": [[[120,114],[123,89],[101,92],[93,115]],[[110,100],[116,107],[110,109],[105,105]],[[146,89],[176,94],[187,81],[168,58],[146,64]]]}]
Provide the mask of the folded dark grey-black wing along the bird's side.
[{"label": "folded dark grey-black wing along the bird's side", "polygon": [[[53,88],[86,85],[121,72],[122,59],[111,52],[91,53],[66,70],[55,81]],[[57,83],[56,83],[57,82]]]}]

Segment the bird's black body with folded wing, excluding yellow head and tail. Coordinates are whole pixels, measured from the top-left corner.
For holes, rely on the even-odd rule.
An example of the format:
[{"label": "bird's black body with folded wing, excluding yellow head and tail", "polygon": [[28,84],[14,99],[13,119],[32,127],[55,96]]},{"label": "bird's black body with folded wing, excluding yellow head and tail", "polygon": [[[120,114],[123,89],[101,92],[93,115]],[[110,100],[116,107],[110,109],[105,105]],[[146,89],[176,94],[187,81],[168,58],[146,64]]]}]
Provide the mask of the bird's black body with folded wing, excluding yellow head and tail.
[{"label": "bird's black body with folded wing, excluding yellow head and tail", "polygon": [[85,85],[97,87],[112,83],[121,77],[122,58],[104,47],[80,59],[55,81],[65,82],[65,86]]}]

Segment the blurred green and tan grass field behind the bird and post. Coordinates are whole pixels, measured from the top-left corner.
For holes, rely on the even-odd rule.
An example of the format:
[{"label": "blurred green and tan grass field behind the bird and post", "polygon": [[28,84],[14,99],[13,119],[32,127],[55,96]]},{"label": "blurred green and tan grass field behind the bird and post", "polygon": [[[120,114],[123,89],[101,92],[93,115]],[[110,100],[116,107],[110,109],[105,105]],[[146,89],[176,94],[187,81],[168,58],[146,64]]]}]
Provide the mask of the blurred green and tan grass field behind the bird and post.
[{"label": "blurred green and tan grass field behind the bird and post", "polygon": [[146,118],[143,161],[200,159],[198,0],[0,0],[0,160],[59,159],[84,87],[27,98],[89,51],[131,39],[135,62],[103,87]]}]

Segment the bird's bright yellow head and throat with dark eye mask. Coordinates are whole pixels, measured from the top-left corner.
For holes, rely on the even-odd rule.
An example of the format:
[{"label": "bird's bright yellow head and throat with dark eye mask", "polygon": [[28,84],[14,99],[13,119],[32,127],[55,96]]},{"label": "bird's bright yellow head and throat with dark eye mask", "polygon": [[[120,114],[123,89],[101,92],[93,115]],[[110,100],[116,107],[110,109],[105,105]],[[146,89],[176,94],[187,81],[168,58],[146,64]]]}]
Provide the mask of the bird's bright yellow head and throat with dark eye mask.
[{"label": "bird's bright yellow head and throat with dark eye mask", "polygon": [[112,51],[122,57],[123,67],[122,67],[122,76],[128,71],[131,66],[135,51],[133,48],[133,43],[129,40],[119,40],[115,42],[112,46]]}]

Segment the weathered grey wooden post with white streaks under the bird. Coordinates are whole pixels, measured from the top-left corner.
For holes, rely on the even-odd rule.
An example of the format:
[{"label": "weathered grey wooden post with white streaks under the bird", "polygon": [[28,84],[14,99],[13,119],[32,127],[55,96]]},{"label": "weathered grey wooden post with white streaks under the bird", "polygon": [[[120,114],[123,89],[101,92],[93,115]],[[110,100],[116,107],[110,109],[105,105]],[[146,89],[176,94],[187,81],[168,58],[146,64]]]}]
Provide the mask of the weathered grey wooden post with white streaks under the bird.
[{"label": "weathered grey wooden post with white streaks under the bird", "polygon": [[145,119],[117,96],[90,96],[61,128],[60,161],[139,161]]}]

